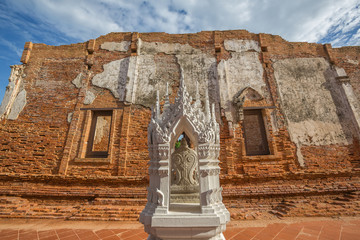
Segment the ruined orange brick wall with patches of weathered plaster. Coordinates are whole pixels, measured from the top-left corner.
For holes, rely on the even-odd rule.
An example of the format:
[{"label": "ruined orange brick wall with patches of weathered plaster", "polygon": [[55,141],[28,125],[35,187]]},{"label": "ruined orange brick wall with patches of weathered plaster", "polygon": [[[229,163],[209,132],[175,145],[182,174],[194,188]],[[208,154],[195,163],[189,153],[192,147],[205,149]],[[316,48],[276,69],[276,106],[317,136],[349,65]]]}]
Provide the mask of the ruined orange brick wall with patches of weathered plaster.
[{"label": "ruined orange brick wall with patches of weathered plaster", "polygon": [[[291,43],[243,30],[27,43],[23,74],[13,77],[18,87],[9,88],[13,100],[0,108],[11,109],[0,111],[0,213],[136,219],[146,201],[156,90],[163,103],[168,83],[174,101],[182,72],[193,97],[198,81],[201,100],[207,93],[215,103],[220,178],[233,218],[281,215],[286,204],[293,205],[286,216],[336,215],[342,198],[353,199],[342,213],[358,214],[359,58],[359,47]],[[24,92],[26,101],[17,97]],[[243,114],[250,110],[261,112],[269,154],[246,152]],[[102,147],[108,150],[92,151],[101,114],[111,118],[108,148]]]}]

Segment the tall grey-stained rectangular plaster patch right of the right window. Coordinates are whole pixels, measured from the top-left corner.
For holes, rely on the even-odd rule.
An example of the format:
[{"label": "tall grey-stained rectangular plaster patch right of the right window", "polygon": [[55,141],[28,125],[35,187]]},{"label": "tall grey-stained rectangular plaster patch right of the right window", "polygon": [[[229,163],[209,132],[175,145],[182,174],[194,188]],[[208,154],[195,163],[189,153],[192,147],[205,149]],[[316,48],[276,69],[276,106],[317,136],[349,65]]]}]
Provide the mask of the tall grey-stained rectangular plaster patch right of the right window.
[{"label": "tall grey-stained rectangular plaster patch right of the right window", "polygon": [[[334,101],[334,71],[323,58],[295,58],[274,63],[282,110],[291,140],[304,165],[302,145],[348,144]],[[337,87],[338,88],[338,87]]]}]

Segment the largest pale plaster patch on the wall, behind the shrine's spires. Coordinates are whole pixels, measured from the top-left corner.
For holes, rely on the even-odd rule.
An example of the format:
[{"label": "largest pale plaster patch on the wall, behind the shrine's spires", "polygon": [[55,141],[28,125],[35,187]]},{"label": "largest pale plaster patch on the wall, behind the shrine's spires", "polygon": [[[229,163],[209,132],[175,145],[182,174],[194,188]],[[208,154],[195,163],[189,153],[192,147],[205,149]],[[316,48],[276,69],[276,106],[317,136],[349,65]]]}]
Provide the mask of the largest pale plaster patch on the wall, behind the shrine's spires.
[{"label": "largest pale plaster patch on the wall, behind the shrine's spires", "polygon": [[[216,85],[216,59],[188,44],[141,42],[140,49],[142,55],[105,64],[104,71],[93,77],[92,84],[109,89],[120,101],[150,107],[154,104],[156,90],[160,90],[161,96],[165,93],[167,79],[157,79],[156,73],[159,69],[154,61],[154,54],[165,52],[178,53],[175,56],[184,69],[185,83],[193,97],[196,81],[200,83],[202,98],[208,85]],[[209,95],[216,100],[215,93],[210,92]]]}]

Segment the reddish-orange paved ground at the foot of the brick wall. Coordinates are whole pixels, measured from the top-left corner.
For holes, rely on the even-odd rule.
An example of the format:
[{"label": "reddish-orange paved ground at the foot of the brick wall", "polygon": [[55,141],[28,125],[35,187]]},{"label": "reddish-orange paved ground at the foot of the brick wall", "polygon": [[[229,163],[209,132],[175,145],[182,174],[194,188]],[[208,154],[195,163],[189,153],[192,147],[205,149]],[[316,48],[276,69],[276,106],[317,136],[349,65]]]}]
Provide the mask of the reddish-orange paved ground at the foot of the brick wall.
[{"label": "reddish-orange paved ground at the foot of the brick wall", "polygon": [[[292,218],[233,221],[227,240],[360,240],[360,218]],[[0,219],[0,240],[139,240],[147,234],[137,222]]]}]

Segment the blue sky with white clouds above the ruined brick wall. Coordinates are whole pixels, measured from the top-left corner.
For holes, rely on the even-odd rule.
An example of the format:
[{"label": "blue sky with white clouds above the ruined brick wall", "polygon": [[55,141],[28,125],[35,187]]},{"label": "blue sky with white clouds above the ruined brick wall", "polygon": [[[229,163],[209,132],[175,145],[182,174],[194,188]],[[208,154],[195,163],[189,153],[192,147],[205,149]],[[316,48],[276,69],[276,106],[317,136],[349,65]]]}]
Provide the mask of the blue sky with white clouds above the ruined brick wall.
[{"label": "blue sky with white clouds above the ruined brick wall", "polygon": [[63,45],[109,32],[246,29],[288,41],[360,45],[360,0],[1,0],[0,100],[24,43]]}]

